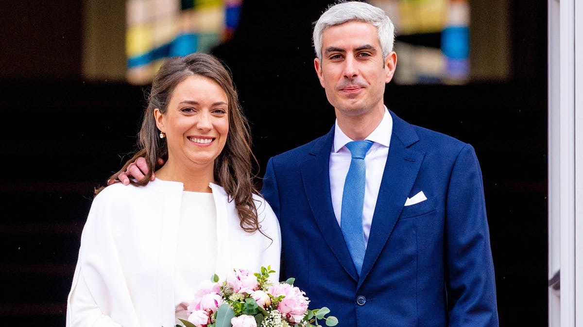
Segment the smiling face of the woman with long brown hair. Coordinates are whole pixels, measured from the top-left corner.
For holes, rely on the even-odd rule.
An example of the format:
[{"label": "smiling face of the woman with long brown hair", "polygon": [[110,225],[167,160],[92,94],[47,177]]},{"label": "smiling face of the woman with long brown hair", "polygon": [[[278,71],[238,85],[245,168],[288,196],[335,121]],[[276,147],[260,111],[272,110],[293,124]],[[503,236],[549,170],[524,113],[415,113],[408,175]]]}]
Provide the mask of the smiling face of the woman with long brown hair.
[{"label": "smiling face of the woman with long brown hair", "polygon": [[168,163],[213,167],[229,133],[229,100],[214,80],[188,76],[175,87],[166,114],[154,110],[156,124],[166,133]]}]

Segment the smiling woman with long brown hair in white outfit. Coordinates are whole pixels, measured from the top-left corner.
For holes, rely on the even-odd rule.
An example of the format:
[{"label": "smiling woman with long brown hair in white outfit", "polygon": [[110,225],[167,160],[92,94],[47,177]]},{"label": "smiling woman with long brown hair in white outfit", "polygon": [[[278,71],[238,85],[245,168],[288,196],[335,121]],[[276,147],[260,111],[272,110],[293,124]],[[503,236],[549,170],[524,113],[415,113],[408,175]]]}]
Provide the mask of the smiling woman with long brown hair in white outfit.
[{"label": "smiling woman with long brown hair in white outfit", "polygon": [[279,224],[251,184],[248,125],[217,59],[191,54],[164,62],[139,147],[121,171],[145,157],[156,178],[110,185],[94,198],[67,326],[171,327],[175,308],[213,274],[223,279],[233,269],[267,265],[279,271]]}]

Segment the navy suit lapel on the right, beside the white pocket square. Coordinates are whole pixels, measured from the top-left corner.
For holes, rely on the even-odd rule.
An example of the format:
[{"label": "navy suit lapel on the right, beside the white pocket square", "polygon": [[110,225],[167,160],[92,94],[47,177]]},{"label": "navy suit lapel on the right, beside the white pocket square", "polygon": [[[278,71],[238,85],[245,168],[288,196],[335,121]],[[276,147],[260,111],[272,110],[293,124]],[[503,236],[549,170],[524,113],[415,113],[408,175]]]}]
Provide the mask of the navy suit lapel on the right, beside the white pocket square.
[{"label": "navy suit lapel on the right, beside the white pocket square", "polygon": [[424,157],[423,152],[410,149],[410,146],[419,140],[415,130],[392,112],[391,115],[393,118],[391,144],[382,174],[358,287],[366,279],[391,237]]}]

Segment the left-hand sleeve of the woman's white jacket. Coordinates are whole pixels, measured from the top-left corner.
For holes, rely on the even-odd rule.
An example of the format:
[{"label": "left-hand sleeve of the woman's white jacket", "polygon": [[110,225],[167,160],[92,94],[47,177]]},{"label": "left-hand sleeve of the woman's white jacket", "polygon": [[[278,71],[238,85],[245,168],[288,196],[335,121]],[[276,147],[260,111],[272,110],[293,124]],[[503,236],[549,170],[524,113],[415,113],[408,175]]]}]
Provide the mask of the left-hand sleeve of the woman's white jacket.
[{"label": "left-hand sleeve of the woman's white jacket", "polygon": [[79,258],[67,299],[66,327],[137,327],[111,221],[124,213],[108,187],[94,198],[83,227]]}]

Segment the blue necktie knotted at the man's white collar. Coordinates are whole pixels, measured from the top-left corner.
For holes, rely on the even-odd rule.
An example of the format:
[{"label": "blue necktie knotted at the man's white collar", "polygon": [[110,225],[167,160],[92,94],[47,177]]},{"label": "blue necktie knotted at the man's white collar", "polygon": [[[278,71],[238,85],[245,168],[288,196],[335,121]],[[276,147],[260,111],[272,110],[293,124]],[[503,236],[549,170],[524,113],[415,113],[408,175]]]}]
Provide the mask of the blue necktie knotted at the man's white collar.
[{"label": "blue necktie knotted at the man's white collar", "polygon": [[340,229],[359,275],[366,251],[363,234],[364,186],[366,184],[364,156],[372,145],[373,142],[369,140],[352,141],[346,144],[352,153],[352,160],[350,160],[350,168],[348,168],[342,192]]}]

